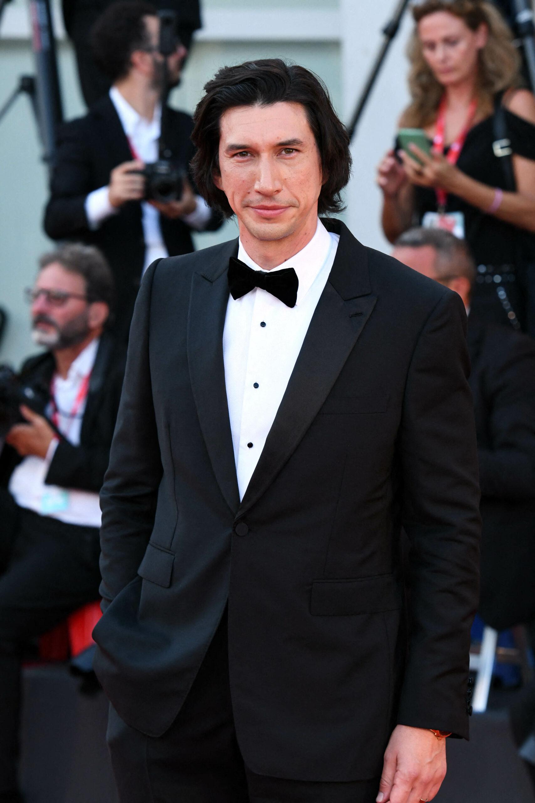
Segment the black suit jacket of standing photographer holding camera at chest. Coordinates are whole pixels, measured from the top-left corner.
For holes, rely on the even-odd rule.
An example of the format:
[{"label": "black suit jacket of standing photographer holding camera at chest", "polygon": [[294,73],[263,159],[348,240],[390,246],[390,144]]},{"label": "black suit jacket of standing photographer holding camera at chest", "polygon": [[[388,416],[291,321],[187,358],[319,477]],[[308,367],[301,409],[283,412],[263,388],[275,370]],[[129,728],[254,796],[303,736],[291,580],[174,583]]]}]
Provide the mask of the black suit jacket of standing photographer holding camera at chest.
[{"label": "black suit jacket of standing photographer holding camera at chest", "polygon": [[[193,120],[171,109],[168,124],[173,158],[187,166],[195,153],[190,139]],[[116,282],[114,331],[125,339],[145,259],[141,204],[127,202],[95,230],[89,227],[84,205],[89,193],[109,183],[112,169],[132,158],[116,108],[109,96],[104,96],[86,116],[59,129],[51,197],[44,216],[45,231],[52,239],[95,245],[106,255]],[[190,181],[193,184],[191,176]],[[191,229],[186,223],[160,215],[160,226],[169,255],[193,251]],[[213,213],[207,230],[219,226],[221,217]]]}]

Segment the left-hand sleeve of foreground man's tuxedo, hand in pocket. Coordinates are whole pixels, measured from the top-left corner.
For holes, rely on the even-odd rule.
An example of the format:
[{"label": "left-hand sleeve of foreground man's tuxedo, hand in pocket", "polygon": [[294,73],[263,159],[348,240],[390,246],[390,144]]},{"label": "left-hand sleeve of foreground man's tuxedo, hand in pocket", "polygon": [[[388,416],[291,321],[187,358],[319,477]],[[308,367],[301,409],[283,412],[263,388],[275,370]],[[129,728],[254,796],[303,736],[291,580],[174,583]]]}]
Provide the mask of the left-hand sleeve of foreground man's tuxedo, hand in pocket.
[{"label": "left-hand sleeve of foreground man's tuxedo, hand in pocket", "polygon": [[100,493],[103,611],[136,577],[154,525],[163,474],[148,358],[152,279],[158,262],[148,268],[136,300],[110,464]]}]

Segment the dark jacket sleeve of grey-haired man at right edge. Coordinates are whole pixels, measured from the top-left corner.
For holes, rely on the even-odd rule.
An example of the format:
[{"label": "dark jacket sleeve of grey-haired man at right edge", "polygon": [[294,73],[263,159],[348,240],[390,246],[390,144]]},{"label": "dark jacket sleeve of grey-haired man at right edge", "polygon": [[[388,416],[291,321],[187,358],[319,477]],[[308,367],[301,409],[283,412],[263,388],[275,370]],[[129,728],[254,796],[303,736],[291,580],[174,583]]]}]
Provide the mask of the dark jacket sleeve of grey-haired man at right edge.
[{"label": "dark jacket sleeve of grey-haired man at right edge", "polygon": [[506,342],[485,382],[491,446],[479,450],[480,486],[483,496],[516,502],[535,499],[535,344],[526,336]]}]

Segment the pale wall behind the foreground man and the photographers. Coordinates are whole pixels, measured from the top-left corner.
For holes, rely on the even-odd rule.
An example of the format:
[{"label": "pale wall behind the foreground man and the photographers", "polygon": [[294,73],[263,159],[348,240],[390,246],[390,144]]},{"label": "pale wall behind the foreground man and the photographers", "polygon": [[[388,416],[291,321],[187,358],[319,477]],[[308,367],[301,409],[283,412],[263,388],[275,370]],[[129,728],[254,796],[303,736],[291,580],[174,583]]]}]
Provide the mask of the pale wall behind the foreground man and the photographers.
[{"label": "pale wall behind the foreground man and the photographers", "polygon": [[[2,19],[0,104],[18,75],[33,71],[26,5],[26,0],[14,0]],[[172,103],[191,112],[205,81],[218,67],[275,55],[318,73],[338,114],[348,122],[394,5],[395,0],[204,0],[205,25]],[[56,14],[58,6],[54,0]],[[407,14],[355,137],[354,175],[343,215],[364,243],[379,249],[386,249],[387,243],[379,227],[375,166],[391,144],[396,117],[406,102],[403,47],[409,29]],[[83,113],[83,102],[59,14],[56,32],[63,102],[71,118]],[[41,231],[47,176],[40,151],[29,101],[19,98],[0,123],[0,305],[10,315],[0,361],[15,364],[34,349],[22,288],[34,278],[39,253],[51,246]],[[218,232],[198,236],[197,247],[234,236],[236,227],[229,222]]]}]

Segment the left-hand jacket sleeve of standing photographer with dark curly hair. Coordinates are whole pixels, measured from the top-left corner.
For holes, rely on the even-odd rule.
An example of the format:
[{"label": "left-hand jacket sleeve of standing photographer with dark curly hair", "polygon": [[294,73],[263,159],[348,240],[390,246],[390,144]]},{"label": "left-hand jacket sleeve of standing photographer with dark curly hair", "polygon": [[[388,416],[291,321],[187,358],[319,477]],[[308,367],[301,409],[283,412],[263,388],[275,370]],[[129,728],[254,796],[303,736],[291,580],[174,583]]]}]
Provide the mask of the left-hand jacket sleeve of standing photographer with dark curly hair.
[{"label": "left-hand jacket sleeve of standing photographer with dark curly hair", "polygon": [[60,129],[51,196],[44,214],[44,229],[53,240],[87,235],[85,200],[95,186],[91,182],[91,158],[79,120]]}]

